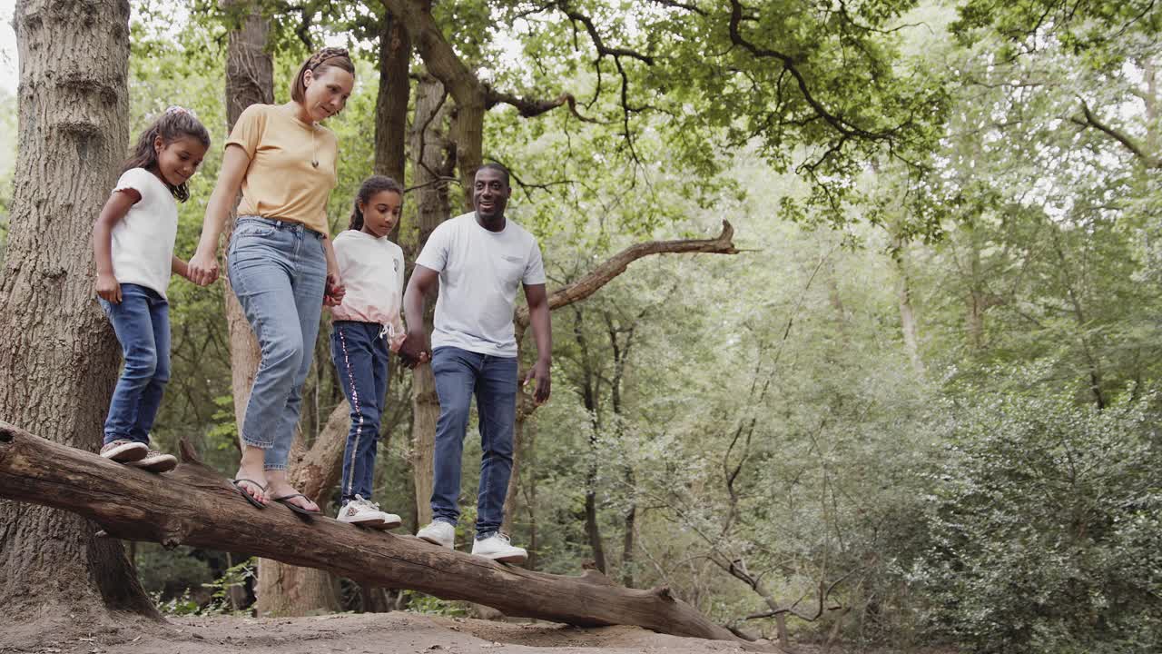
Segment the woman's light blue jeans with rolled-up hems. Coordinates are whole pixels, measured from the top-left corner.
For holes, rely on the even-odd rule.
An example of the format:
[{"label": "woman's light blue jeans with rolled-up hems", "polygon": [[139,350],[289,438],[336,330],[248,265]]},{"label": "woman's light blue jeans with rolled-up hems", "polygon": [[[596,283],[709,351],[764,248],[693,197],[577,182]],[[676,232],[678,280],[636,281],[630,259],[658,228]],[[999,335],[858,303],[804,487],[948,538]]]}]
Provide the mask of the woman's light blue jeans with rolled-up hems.
[{"label": "woman's light blue jeans with rolled-up hems", "polygon": [[230,285],[263,351],[242,441],[266,450],[267,470],[286,470],[323,311],[323,235],[295,222],[243,215],[228,257]]}]

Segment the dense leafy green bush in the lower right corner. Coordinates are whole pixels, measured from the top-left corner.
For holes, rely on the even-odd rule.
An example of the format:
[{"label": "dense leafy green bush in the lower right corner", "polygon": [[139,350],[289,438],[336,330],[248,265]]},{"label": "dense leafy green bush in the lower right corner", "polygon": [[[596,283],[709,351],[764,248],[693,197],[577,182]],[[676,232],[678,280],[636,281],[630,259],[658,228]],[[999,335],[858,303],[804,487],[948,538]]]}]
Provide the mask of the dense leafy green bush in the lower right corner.
[{"label": "dense leafy green bush in the lower right corner", "polygon": [[1157,398],[1105,411],[1046,368],[966,389],[913,573],[934,630],[978,652],[1146,652],[1162,641]]}]

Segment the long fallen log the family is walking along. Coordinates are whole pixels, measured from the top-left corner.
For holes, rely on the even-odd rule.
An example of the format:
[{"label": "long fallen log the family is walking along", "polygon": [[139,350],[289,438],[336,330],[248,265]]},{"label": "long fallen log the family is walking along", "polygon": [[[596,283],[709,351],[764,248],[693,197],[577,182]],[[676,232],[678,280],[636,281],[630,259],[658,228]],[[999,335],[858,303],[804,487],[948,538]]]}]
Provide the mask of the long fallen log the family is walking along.
[{"label": "long fallen log the family is walking along", "polygon": [[78,513],[119,539],[258,554],[514,617],[637,625],[741,644],[665,587],[627,589],[595,570],[579,577],[535,573],[324,516],[304,521],[277,504],[257,510],[185,441],[181,458],[172,472],[153,475],[0,421],[0,497]]}]

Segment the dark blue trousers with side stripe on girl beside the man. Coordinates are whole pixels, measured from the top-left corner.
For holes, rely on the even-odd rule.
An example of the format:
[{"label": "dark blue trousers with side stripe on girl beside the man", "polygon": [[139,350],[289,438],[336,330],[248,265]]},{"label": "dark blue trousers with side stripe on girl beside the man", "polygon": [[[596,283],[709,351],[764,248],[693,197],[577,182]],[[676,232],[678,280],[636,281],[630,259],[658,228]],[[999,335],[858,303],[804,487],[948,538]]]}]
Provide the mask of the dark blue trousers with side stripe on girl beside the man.
[{"label": "dark blue trousers with side stripe on girl beside the man", "polygon": [[371,499],[379,424],[387,394],[390,350],[378,322],[336,320],[331,325],[331,360],[351,406],[351,431],[343,453],[342,503]]}]

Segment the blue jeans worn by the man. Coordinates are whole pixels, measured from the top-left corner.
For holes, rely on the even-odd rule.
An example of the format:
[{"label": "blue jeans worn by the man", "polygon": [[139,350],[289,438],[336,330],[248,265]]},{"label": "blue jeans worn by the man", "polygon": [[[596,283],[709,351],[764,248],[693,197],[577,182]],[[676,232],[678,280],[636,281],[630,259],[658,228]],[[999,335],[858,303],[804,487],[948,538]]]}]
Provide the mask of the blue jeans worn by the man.
[{"label": "blue jeans worn by the man", "polygon": [[468,408],[476,396],[480,414],[480,490],[476,538],[500,531],[504,496],[512,475],[512,429],[516,424],[516,357],[478,354],[453,347],[432,351],[432,374],[439,396],[432,479],[432,519],[456,525],[460,518],[460,456],[468,429]]}]

